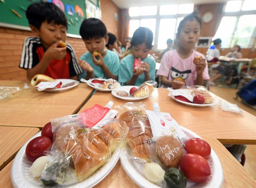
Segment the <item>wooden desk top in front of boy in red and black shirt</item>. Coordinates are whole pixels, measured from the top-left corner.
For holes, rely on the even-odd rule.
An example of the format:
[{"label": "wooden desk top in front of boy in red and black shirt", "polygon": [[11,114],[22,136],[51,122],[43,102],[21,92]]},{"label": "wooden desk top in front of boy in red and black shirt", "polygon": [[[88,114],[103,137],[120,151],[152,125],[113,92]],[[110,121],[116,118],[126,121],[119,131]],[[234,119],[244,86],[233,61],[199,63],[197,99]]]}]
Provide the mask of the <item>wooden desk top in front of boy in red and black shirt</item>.
[{"label": "wooden desk top in front of boy in red and black shirt", "polygon": [[39,92],[24,81],[0,80],[0,86],[19,86],[21,91],[0,100],[0,125],[43,127],[52,118],[75,114],[93,89],[80,83],[63,92]]}]

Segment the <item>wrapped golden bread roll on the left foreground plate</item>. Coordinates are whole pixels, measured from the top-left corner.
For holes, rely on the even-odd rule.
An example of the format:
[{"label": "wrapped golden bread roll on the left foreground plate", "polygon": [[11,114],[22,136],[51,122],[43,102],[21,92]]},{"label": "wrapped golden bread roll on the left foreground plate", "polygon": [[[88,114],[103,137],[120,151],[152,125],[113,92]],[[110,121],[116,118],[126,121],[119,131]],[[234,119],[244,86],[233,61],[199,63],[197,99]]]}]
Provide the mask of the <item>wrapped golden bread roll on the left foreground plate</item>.
[{"label": "wrapped golden bread roll on the left foreground plate", "polygon": [[[85,132],[81,132],[85,131]],[[77,125],[59,128],[54,134],[54,147],[71,157],[76,177],[84,180],[106,163],[120,139],[118,122],[111,122],[101,130],[81,129]]]}]

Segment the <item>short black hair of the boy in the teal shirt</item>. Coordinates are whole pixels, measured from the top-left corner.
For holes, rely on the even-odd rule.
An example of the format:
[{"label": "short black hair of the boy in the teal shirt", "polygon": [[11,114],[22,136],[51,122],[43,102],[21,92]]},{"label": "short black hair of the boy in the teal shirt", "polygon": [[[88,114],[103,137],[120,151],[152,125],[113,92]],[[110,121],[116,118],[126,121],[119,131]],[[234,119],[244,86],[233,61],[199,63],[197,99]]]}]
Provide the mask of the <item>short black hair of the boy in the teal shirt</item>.
[{"label": "short black hair of the boy in the teal shirt", "polygon": [[80,35],[83,40],[102,38],[107,35],[105,24],[97,18],[85,19],[80,26]]}]

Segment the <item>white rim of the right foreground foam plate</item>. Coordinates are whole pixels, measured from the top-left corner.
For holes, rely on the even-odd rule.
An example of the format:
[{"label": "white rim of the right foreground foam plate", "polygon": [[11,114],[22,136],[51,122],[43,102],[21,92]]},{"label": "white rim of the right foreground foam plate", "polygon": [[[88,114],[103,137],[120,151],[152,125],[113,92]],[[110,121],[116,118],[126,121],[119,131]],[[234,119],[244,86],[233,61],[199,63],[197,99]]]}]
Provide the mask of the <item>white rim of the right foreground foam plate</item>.
[{"label": "white rim of the right foreground foam plate", "polygon": [[[201,138],[200,136],[198,136],[196,133],[192,132],[191,130],[180,126],[182,130],[189,132],[190,134],[192,134],[192,136],[194,136],[194,138]],[[201,138],[202,139],[202,138]],[[138,173],[137,169],[134,169],[133,166],[130,164],[130,159],[127,159],[125,157],[122,156],[126,156],[126,152],[125,150],[121,151],[121,157],[120,157],[120,162],[122,164],[122,167],[124,168],[124,171],[128,174],[128,176],[140,187],[142,188],[161,188],[160,186],[153,184],[151,182],[149,182],[144,176],[142,176],[140,173]],[[216,155],[216,153],[214,152],[214,150],[211,148],[211,156],[212,159],[214,159],[214,175],[212,175],[212,180],[209,182],[209,184],[207,184],[206,187],[216,187],[216,188],[220,188],[222,186],[222,183],[224,181],[224,174],[223,174],[223,170],[222,170],[222,166],[220,163],[220,160],[218,158],[218,156]],[[195,184],[196,186],[196,184]],[[193,186],[194,187],[194,186]]]}]

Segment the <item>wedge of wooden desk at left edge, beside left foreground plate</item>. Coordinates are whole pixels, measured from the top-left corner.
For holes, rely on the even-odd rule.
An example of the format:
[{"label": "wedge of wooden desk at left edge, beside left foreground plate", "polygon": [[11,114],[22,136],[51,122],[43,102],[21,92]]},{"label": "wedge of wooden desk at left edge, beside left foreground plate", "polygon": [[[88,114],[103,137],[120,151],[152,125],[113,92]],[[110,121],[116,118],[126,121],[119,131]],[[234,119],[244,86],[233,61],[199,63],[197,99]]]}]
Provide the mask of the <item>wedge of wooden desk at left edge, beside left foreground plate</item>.
[{"label": "wedge of wooden desk at left edge, beside left foreground plate", "polygon": [[37,132],[39,132],[38,128],[0,126],[0,170],[15,157],[21,146]]}]

